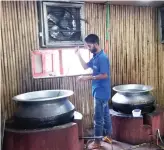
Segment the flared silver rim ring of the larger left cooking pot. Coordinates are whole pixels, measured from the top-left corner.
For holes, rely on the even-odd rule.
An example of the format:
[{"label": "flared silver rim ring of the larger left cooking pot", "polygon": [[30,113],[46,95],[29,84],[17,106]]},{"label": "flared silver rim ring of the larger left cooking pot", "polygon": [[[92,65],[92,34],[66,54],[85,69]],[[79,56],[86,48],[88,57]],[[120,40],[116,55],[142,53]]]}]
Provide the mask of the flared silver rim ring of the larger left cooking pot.
[{"label": "flared silver rim ring of the larger left cooking pot", "polygon": [[[30,94],[35,94],[35,93],[41,93],[41,92],[65,92],[65,94],[63,96],[57,96],[57,97],[46,97],[46,98],[25,98],[25,97],[28,97]],[[56,89],[56,90],[41,90],[41,91],[33,91],[33,92],[27,92],[27,93],[23,93],[23,94],[19,94],[19,95],[16,95],[12,98],[12,100],[14,101],[17,101],[17,102],[42,102],[42,101],[51,101],[51,100],[58,100],[58,99],[63,99],[63,98],[66,98],[66,97],[70,97],[74,94],[73,91],[71,90],[59,90],[59,89]],[[58,93],[57,93],[58,95]]]}]

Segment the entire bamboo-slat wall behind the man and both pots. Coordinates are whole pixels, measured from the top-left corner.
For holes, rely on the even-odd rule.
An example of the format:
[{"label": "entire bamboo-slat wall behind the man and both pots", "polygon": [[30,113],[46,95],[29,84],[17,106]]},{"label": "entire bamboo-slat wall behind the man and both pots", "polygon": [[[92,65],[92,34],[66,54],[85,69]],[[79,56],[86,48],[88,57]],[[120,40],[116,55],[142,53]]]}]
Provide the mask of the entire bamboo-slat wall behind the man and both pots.
[{"label": "entire bamboo-slat wall behind the man and both pots", "polygon": [[[164,106],[164,45],[158,41],[157,12],[152,8],[111,6],[110,50],[112,84],[153,85],[158,103]],[[96,33],[105,46],[104,5],[86,4],[87,33]],[[30,51],[38,48],[36,2],[2,2],[2,111],[11,116],[17,94],[44,89],[71,89],[86,128],[92,124],[91,84],[76,84],[76,77],[33,79]]]}]

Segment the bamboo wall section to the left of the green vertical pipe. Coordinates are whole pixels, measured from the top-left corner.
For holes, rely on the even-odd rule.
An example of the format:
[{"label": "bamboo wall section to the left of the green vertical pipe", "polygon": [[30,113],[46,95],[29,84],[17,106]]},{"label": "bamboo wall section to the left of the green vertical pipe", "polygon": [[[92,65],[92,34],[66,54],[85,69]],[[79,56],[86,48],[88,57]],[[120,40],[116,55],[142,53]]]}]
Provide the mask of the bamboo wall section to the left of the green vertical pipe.
[{"label": "bamboo wall section to the left of the green vertical pipe", "polygon": [[[19,93],[71,89],[75,92],[71,101],[83,113],[84,125],[89,127],[93,112],[90,83],[76,84],[77,77],[32,78],[30,51],[38,49],[39,43],[36,2],[2,2],[2,8],[2,111],[5,110],[7,116],[13,114],[15,106],[11,98]],[[86,34],[96,32],[102,37],[101,43],[104,45],[104,5],[90,4],[85,9],[86,19],[89,20]]]}]

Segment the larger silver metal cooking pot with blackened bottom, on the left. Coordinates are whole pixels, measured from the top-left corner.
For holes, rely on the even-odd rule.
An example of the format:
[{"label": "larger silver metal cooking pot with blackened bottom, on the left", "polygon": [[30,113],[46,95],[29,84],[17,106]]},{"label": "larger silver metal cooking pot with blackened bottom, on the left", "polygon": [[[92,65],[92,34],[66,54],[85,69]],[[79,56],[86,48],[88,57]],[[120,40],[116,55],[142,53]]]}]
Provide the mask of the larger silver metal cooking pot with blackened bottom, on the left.
[{"label": "larger silver metal cooking pot with blackened bottom, on the left", "polygon": [[55,126],[70,122],[75,111],[70,90],[43,90],[13,97],[18,104],[14,121],[22,128]]}]

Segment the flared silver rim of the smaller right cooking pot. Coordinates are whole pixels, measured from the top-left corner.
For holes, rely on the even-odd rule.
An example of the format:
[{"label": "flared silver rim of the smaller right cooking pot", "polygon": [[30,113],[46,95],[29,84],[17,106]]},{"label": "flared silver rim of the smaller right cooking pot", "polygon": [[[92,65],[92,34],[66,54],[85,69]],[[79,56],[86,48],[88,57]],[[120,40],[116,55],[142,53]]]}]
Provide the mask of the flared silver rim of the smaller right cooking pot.
[{"label": "flared silver rim of the smaller right cooking pot", "polygon": [[[129,88],[128,88],[129,87]],[[134,88],[137,87],[137,88]],[[114,91],[122,94],[139,94],[139,93],[146,93],[153,90],[152,86],[143,85],[143,84],[123,84],[117,85],[112,88]],[[130,91],[132,90],[139,90],[139,91]]]}]

